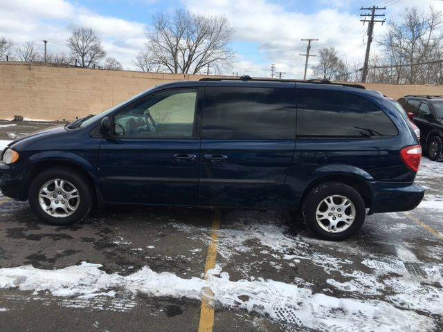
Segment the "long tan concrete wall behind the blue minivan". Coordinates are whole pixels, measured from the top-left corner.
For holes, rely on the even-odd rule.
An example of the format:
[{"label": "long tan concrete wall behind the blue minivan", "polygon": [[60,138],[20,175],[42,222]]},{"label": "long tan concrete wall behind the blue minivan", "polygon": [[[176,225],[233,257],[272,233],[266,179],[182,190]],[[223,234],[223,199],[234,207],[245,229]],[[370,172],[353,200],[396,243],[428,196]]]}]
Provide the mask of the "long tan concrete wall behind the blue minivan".
[{"label": "long tan concrete wall behind the blue minivan", "polygon": [[[104,71],[0,62],[0,119],[73,120],[97,114],[156,84],[199,80],[201,75]],[[443,86],[365,84],[392,98],[443,95]]]}]

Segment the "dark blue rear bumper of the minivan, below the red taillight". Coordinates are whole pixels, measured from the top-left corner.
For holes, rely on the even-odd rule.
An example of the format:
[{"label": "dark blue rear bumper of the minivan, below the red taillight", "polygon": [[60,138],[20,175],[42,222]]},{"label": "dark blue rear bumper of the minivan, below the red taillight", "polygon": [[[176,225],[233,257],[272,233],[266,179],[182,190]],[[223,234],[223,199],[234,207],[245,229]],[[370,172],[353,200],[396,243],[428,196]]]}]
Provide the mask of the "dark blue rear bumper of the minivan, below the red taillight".
[{"label": "dark blue rear bumper of the minivan, below the red taillight", "polygon": [[373,182],[371,189],[369,214],[413,210],[424,197],[424,188],[413,183]]}]

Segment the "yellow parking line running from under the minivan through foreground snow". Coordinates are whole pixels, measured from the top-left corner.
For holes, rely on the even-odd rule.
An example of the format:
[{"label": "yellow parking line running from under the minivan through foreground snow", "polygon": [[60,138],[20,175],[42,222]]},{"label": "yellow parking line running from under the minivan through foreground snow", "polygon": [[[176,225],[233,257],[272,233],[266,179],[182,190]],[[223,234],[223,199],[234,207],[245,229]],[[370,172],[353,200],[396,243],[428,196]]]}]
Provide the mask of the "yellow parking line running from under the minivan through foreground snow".
[{"label": "yellow parking line running from under the minivan through foreground snow", "polygon": [[[217,241],[219,236],[217,230],[220,229],[221,213],[220,210],[215,210],[213,220],[212,232],[210,233],[211,242],[208,248],[208,255],[206,256],[205,279],[208,279],[208,270],[215,268],[215,261],[217,261]],[[210,289],[204,289],[201,295],[201,310],[199,332],[212,332],[214,327],[214,307],[213,307],[214,293]]]}]

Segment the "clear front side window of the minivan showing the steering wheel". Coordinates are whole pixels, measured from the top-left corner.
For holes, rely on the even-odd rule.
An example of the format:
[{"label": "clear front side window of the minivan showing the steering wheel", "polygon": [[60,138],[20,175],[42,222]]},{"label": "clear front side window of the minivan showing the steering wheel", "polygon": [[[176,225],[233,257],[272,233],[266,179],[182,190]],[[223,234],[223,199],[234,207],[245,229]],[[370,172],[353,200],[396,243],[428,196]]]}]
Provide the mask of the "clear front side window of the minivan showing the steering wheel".
[{"label": "clear front side window of the minivan showing the steering wheel", "polygon": [[114,135],[120,138],[191,139],[197,89],[176,89],[147,95],[120,111]]}]

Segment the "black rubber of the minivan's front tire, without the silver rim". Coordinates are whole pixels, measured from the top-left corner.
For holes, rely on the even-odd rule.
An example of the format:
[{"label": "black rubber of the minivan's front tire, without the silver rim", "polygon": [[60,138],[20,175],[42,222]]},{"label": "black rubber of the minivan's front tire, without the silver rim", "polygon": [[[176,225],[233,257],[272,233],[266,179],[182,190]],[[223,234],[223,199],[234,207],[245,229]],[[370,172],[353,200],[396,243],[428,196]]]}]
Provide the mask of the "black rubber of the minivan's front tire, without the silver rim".
[{"label": "black rubber of the minivan's front tire, without the silver rim", "polygon": [[[78,207],[69,216],[58,218],[51,216],[40,206],[40,189],[45,183],[54,179],[69,181],[78,190],[78,195],[80,196]],[[91,188],[87,178],[83,174],[79,174],[75,169],[67,167],[52,168],[35,176],[28,190],[28,200],[37,217],[45,223],[60,226],[72,225],[86,219],[89,212],[91,212],[93,207],[93,188]]]}]

